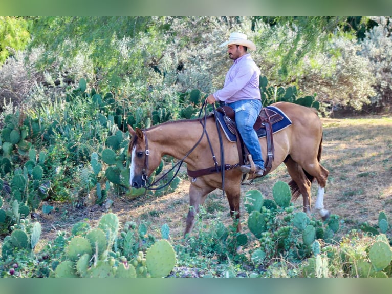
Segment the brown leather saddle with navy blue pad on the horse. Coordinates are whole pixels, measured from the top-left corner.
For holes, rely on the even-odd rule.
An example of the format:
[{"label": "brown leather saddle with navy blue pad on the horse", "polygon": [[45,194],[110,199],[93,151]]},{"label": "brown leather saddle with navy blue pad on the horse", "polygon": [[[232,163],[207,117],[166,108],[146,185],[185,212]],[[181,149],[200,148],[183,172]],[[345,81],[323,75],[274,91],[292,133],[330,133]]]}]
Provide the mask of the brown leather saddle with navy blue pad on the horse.
[{"label": "brown leather saddle with navy blue pad on the horse", "polygon": [[[237,143],[238,156],[240,159],[239,164],[243,165],[250,163],[252,165],[253,161],[251,155],[244,145],[236,127],[234,110],[229,106],[221,106],[216,109],[216,112],[215,119],[218,119],[220,122],[226,137],[228,137],[230,141]],[[270,172],[274,160],[273,133],[286,128],[290,124],[290,119],[276,107],[267,106],[260,111],[256,122],[253,125],[253,129],[256,131],[258,138],[266,137],[267,139],[266,170],[264,171],[263,176]],[[228,134],[227,130],[231,134]]]}]

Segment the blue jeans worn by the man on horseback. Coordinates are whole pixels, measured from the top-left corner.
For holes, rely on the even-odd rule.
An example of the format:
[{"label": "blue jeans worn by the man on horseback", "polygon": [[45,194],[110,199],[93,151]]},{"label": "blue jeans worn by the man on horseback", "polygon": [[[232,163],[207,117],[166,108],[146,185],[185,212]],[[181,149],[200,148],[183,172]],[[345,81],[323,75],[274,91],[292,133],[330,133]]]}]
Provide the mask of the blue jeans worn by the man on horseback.
[{"label": "blue jeans worn by the man on horseback", "polygon": [[261,100],[239,100],[228,103],[235,111],[235,123],[244,144],[252,155],[254,164],[258,165],[260,169],[264,169],[264,160],[262,157],[262,149],[257,138],[257,133],[253,129],[257,116],[262,110]]}]

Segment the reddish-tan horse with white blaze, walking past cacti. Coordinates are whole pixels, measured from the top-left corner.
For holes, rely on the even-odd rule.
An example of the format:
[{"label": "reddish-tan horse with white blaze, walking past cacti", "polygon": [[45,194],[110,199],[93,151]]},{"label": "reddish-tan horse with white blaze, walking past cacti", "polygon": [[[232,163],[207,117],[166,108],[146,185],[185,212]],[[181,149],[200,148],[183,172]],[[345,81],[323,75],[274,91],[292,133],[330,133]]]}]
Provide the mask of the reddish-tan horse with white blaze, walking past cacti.
[{"label": "reddish-tan horse with white blaze, walking past cacti", "polygon": [[[329,218],[330,212],[324,209],[323,197],[329,171],[320,164],[322,152],[323,130],[320,118],[315,109],[290,102],[272,104],[284,112],[292,121],[289,127],[275,133],[274,160],[270,172],[281,163],[287,166],[291,177],[292,201],[299,195],[303,198],[303,211],[311,214],[311,185],[318,183],[317,198],[314,208],[323,220]],[[239,155],[236,143],[224,136],[217,138],[217,125],[214,116],[207,116],[204,125],[202,119],[183,119],[168,121],[147,129],[135,130],[128,125],[130,141],[128,154],[130,160],[129,184],[134,188],[146,187],[148,177],[160,165],[162,156],[169,155],[186,162],[190,171],[214,166],[221,160],[220,150],[223,145],[225,166],[224,177],[221,173],[212,173],[190,180],[189,211],[186,217],[184,237],[191,233],[195,215],[199,212],[207,195],[215,189],[224,190],[230,206],[230,214],[238,220],[237,232],[241,232],[240,192],[243,173],[239,169]],[[204,135],[207,134],[207,136]],[[260,146],[264,160],[267,154],[266,138],[260,138]],[[216,157],[216,158],[213,158]],[[254,179],[255,175],[249,175]],[[189,177],[190,178],[190,177]],[[224,186],[222,182],[224,181]]]}]

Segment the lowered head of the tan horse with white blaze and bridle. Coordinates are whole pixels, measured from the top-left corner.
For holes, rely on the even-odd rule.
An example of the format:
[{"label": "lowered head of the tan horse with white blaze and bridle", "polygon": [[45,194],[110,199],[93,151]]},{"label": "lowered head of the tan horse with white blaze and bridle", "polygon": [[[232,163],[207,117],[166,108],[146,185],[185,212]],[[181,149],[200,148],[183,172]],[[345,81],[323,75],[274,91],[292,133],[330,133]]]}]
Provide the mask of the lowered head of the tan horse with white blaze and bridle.
[{"label": "lowered head of the tan horse with white blaze and bridle", "polygon": [[128,124],[131,139],[128,154],[131,156],[129,184],[134,188],[146,186],[148,177],[161,163],[161,153],[157,151],[156,144],[148,140],[146,133],[139,128],[136,130]]}]

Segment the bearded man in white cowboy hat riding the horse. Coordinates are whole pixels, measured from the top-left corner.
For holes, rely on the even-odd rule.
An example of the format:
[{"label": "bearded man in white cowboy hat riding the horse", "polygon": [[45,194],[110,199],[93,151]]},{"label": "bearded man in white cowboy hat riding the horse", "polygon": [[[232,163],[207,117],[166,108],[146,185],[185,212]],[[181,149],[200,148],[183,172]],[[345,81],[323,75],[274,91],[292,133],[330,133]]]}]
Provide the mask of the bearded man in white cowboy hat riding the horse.
[{"label": "bearded man in white cowboy hat riding the horse", "polygon": [[264,160],[260,143],[253,125],[262,110],[262,99],[259,89],[260,69],[247,50],[256,50],[256,46],[242,33],[231,33],[230,38],[220,47],[227,46],[229,58],[233,65],[226,74],[225,83],[221,90],[210,94],[207,103],[222,101],[235,112],[235,123],[246,148],[252,156],[255,171],[251,171],[251,164],[242,165],[243,173],[254,173],[262,176]]}]

